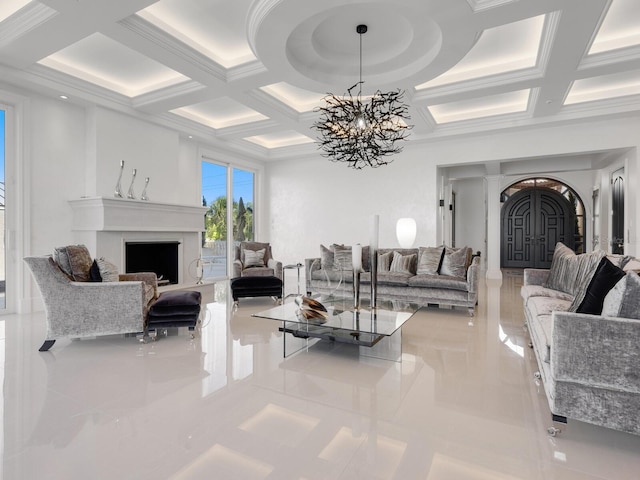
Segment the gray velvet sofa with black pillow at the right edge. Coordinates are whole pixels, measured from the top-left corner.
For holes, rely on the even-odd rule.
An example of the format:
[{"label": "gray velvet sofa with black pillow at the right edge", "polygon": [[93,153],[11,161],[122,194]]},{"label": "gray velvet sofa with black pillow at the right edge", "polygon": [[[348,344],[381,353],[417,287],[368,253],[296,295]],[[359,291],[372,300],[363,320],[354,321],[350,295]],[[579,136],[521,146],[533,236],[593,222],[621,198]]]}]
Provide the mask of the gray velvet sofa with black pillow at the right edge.
[{"label": "gray velvet sofa with black pillow at the right edge", "polygon": [[521,289],[553,420],[640,434],[640,277],[604,252],[562,247],[551,269],[524,270]]}]

